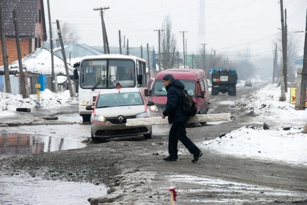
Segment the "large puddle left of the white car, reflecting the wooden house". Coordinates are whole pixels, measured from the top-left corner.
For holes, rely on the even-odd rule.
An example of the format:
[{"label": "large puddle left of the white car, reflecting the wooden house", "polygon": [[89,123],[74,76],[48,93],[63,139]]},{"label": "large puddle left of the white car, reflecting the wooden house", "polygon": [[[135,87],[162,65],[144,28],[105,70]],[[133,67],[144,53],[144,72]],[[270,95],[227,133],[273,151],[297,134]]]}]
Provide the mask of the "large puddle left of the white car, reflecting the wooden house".
[{"label": "large puddle left of the white car, reflecting the wooden house", "polygon": [[39,125],[0,128],[0,154],[30,154],[86,146],[90,136],[84,125]]}]

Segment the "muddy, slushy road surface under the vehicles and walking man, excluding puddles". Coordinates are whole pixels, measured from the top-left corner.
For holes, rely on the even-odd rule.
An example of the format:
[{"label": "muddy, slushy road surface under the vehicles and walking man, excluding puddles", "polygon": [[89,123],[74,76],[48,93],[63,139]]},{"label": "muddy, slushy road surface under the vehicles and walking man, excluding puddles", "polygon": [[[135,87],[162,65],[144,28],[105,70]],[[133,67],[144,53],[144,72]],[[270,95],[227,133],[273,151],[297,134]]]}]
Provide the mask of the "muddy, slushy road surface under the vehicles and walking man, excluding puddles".
[{"label": "muddy, slushy road surface under the vehicles and walking man, excluding puddles", "polygon": [[[210,96],[209,114],[230,113],[231,121],[187,129],[188,137],[199,142],[244,125],[262,127],[262,124],[252,122],[252,113],[244,114],[240,108],[230,106],[262,86],[263,83],[254,83],[253,87],[240,86],[237,96],[227,93]],[[70,126],[73,127],[65,125],[65,130]],[[170,183],[176,186],[178,205],[307,204],[307,167],[236,158],[211,150],[203,150],[200,160],[191,163],[192,155],[180,142],[179,160],[166,162],[162,158],[168,155],[169,126],[154,127],[154,137],[149,140],[127,137],[96,144],[86,138],[89,137],[86,136],[90,129],[88,125],[83,129],[74,126],[72,138],[76,135],[84,138],[89,143],[86,147],[34,154],[2,154],[0,172],[6,177],[18,173],[47,180],[107,185],[108,195],[88,196],[92,205],[168,205]],[[31,126],[19,128],[31,131]],[[3,129],[1,132],[9,133]],[[69,133],[66,137],[70,137]]]}]

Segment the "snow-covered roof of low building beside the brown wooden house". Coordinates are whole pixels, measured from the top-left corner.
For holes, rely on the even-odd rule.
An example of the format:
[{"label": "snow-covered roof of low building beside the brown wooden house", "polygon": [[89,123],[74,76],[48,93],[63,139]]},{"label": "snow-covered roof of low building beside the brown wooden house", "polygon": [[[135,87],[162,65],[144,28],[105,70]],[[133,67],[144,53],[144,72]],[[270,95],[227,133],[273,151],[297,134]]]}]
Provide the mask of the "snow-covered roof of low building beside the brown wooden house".
[{"label": "snow-covered roof of low building beside the brown wooden house", "polygon": [[[45,48],[38,48],[35,52],[22,58],[23,70],[30,73],[51,75],[51,52]],[[8,65],[9,71],[19,72],[18,61],[15,61]],[[70,75],[73,75],[74,69],[68,64]],[[0,67],[0,71],[3,71],[4,67]],[[56,75],[66,75],[64,61],[54,55],[54,71]]]}]

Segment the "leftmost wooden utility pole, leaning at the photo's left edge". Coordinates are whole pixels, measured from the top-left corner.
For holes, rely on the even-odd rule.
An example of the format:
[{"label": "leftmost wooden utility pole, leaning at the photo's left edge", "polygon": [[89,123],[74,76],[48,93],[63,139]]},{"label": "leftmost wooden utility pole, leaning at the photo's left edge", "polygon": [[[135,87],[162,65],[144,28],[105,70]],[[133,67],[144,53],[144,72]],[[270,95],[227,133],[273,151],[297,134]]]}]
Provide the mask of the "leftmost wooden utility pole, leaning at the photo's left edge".
[{"label": "leftmost wooden utility pole, leaning at the photo's left edge", "polygon": [[1,36],[3,67],[4,67],[5,92],[12,93],[10,89],[10,81],[9,81],[9,70],[8,70],[7,53],[6,53],[6,39],[5,39],[5,31],[4,31],[2,1],[0,1],[0,36]]}]

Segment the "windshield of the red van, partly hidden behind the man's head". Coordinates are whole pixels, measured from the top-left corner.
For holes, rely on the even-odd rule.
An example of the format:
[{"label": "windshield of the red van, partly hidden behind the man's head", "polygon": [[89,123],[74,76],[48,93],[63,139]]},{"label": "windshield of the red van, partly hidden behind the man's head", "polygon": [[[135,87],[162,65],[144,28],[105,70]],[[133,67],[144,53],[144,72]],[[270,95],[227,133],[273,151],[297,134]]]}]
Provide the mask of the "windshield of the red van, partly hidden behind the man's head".
[{"label": "windshield of the red van, partly hidden behind the man's head", "polygon": [[[180,80],[180,79],[179,79]],[[195,96],[195,82],[193,80],[180,80],[184,84],[184,89],[192,97]],[[162,80],[156,80],[153,86],[152,96],[166,96],[167,91]]]}]

